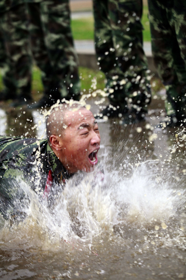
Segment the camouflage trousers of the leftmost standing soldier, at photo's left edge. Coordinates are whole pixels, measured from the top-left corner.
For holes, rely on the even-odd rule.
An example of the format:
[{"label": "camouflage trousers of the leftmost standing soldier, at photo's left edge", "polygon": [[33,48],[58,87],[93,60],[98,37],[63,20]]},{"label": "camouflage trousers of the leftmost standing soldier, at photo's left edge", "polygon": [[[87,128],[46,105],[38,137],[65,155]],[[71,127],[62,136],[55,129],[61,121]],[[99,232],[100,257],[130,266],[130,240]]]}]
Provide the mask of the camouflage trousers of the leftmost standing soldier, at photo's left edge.
[{"label": "camouflage trousers of the leftmost standing soldier, at photo's left edge", "polygon": [[31,52],[25,4],[0,13],[0,67],[10,98],[31,99]]}]

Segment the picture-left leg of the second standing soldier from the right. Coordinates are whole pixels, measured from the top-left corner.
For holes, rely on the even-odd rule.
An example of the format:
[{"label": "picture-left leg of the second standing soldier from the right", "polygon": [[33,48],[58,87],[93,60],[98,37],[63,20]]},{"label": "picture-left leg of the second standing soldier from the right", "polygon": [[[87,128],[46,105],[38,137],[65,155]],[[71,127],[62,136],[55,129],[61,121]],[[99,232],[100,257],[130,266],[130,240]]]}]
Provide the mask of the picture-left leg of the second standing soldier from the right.
[{"label": "picture-left leg of the second standing soldier from the right", "polygon": [[[123,94],[122,82],[125,79],[118,65],[115,42],[113,41],[113,29],[111,26],[110,0],[93,0],[94,12],[94,39],[95,52],[99,69],[106,76],[106,90],[112,106],[106,106],[101,111],[103,116],[117,117],[128,112],[127,102]],[[115,16],[113,12],[113,16]],[[121,82],[122,81],[122,82]],[[98,116],[102,117],[102,115]]]}]

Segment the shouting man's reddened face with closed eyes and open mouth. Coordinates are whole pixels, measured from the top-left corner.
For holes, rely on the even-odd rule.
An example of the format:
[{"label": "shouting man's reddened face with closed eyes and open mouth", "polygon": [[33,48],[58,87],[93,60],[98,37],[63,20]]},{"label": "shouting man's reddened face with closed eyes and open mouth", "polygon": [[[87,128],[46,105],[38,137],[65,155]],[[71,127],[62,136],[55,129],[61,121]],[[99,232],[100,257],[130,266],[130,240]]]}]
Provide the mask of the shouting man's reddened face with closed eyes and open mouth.
[{"label": "shouting man's reddened face with closed eyes and open mouth", "polygon": [[60,161],[69,173],[89,172],[98,162],[100,133],[91,111],[81,109],[65,115],[66,128],[60,138]]}]

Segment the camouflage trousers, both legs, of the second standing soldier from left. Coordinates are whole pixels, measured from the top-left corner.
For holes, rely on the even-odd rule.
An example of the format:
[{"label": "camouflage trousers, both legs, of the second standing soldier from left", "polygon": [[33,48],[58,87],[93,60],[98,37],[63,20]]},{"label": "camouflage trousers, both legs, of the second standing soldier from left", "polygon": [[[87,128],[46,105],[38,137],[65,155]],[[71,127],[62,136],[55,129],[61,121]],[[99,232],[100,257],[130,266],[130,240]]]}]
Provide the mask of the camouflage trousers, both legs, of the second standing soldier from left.
[{"label": "camouflage trousers, both legs, of the second standing soldier from left", "polygon": [[78,56],[70,27],[69,0],[28,3],[33,57],[46,95],[79,99]]}]

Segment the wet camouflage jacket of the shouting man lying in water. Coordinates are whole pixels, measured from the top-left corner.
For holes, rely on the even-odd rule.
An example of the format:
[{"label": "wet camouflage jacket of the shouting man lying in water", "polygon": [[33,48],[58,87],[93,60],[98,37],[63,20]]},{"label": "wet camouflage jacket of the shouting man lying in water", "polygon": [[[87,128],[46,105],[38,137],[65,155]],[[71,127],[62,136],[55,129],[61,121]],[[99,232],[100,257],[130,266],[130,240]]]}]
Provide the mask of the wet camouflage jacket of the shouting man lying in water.
[{"label": "wet camouflage jacket of the shouting man lying in water", "polygon": [[0,136],[1,213],[12,205],[19,191],[15,189],[19,189],[17,186],[21,180],[34,190],[39,186],[44,193],[49,179],[50,187],[59,184],[63,188],[65,180],[70,176],[48,145],[47,139]]}]

